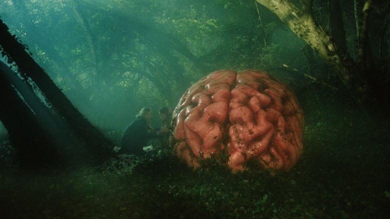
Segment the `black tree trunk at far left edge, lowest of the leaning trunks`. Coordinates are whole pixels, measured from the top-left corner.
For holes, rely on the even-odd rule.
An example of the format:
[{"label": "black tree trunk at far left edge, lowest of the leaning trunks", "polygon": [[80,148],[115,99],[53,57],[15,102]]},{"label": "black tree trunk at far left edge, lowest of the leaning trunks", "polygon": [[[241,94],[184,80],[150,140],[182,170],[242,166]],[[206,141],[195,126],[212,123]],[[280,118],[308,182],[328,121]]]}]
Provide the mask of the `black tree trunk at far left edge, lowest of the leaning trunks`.
[{"label": "black tree trunk at far left edge, lowest of the leaning trunks", "polygon": [[50,146],[51,142],[39,126],[34,113],[11,86],[6,68],[1,62],[0,120],[8,131],[10,143],[17,149],[20,164],[40,166],[58,162],[58,154]]}]

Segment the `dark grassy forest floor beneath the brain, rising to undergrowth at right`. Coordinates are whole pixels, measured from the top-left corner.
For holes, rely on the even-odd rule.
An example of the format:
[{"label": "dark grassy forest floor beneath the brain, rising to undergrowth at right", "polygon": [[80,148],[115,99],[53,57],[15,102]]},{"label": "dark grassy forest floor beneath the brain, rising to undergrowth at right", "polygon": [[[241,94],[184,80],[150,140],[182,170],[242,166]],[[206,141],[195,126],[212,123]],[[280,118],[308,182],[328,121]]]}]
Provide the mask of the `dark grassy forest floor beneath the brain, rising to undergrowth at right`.
[{"label": "dark grassy forest floor beneath the brain, rising to undergrowth at right", "polygon": [[194,172],[167,153],[131,172],[111,161],[50,171],[2,162],[0,218],[388,218],[387,120],[352,106],[324,110],[308,113],[297,165],[274,176]]}]

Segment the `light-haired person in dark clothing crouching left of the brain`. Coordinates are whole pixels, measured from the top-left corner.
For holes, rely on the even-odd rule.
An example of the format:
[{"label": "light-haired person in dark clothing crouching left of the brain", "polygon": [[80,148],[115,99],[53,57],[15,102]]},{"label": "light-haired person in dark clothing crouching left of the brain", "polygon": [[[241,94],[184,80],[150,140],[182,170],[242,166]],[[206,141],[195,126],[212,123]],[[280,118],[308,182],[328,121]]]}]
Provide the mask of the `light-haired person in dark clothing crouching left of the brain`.
[{"label": "light-haired person in dark clothing crouching left of the brain", "polygon": [[162,133],[167,133],[168,129],[161,128],[157,132],[149,125],[153,112],[150,108],[144,107],[135,116],[123,131],[120,138],[121,148],[119,153],[144,155],[143,147],[147,144],[147,139],[157,138]]}]

